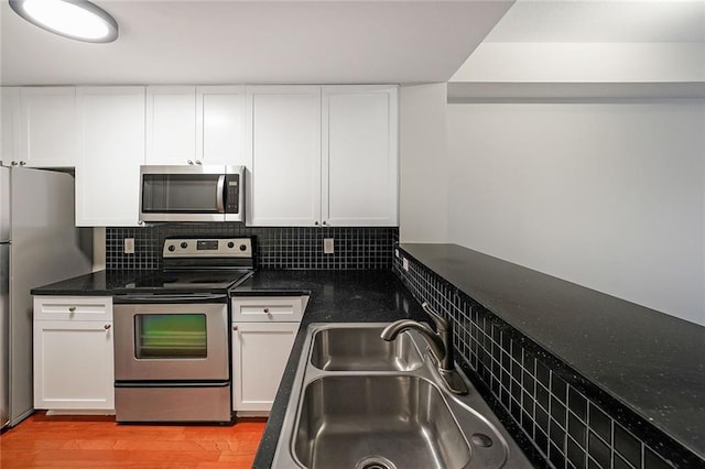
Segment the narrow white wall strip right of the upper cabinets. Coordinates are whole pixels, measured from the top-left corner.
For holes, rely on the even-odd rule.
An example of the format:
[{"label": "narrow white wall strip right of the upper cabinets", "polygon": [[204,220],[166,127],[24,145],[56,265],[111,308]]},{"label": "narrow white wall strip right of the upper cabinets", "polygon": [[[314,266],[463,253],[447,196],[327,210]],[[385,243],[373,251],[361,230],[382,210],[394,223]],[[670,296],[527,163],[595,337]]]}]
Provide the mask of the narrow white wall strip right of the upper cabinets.
[{"label": "narrow white wall strip right of the upper cabinets", "polygon": [[401,242],[447,242],[446,84],[399,94]]}]

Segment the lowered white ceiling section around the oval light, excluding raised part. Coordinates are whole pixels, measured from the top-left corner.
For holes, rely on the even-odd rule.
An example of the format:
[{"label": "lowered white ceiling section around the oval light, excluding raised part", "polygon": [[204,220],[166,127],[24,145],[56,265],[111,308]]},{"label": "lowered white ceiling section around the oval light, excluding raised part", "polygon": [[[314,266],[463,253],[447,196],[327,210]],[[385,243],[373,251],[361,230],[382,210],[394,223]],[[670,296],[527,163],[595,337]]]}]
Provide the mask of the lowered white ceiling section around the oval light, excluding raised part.
[{"label": "lowered white ceiling section around the oval light, excluding raised part", "polygon": [[54,35],[2,0],[2,85],[447,81],[513,0],[94,2],[116,42]]}]

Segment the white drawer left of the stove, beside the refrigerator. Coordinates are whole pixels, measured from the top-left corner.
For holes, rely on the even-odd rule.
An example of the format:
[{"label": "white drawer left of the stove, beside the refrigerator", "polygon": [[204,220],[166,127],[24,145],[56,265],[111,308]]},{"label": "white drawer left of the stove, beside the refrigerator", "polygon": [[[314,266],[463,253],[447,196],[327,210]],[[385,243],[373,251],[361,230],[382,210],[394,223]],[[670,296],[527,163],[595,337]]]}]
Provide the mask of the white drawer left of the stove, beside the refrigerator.
[{"label": "white drawer left of the stove, beside the refrigerator", "polygon": [[35,296],[34,320],[112,320],[110,296]]}]

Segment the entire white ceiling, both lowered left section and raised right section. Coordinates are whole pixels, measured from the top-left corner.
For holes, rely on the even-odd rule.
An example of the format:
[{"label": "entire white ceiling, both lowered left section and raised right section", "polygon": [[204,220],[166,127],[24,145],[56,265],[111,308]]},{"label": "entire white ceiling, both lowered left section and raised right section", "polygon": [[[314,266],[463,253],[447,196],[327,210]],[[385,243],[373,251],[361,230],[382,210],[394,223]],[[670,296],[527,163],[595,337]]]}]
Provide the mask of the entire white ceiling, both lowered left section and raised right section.
[{"label": "entire white ceiling, both lowered left section and raised right section", "polygon": [[480,43],[705,44],[705,0],[94,0],[110,44],[0,1],[2,85],[434,83]]}]

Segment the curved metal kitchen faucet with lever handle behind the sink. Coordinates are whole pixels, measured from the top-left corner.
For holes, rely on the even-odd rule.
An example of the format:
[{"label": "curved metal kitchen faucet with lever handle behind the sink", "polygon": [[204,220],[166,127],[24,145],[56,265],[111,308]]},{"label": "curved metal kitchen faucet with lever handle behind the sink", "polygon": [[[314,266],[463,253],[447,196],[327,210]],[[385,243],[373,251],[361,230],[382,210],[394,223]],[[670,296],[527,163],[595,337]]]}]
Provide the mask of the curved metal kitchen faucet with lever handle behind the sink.
[{"label": "curved metal kitchen faucet with lever handle behind the sink", "polygon": [[392,341],[404,330],[416,330],[429,343],[431,357],[434,359],[438,373],[445,382],[448,391],[454,394],[467,394],[467,386],[457,371],[455,371],[455,360],[453,358],[453,325],[445,320],[438,313],[434,312],[429,303],[421,305],[429,313],[436,324],[437,334],[431,326],[417,323],[412,319],[399,319],[387,326],[380,337],[387,341]]}]

